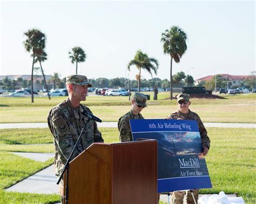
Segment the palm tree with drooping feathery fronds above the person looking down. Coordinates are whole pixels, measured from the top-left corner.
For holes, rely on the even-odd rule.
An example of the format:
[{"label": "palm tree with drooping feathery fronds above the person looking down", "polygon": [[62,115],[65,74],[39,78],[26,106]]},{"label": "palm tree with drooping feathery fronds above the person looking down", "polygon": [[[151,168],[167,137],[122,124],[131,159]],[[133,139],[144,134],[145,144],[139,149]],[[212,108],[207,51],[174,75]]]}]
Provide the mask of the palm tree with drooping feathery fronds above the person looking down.
[{"label": "palm tree with drooping feathery fronds above the person looking down", "polygon": [[146,53],[143,53],[141,50],[138,50],[136,55],[134,56],[134,59],[131,60],[127,66],[127,69],[129,71],[132,65],[135,65],[139,70],[139,74],[136,75],[136,78],[138,80],[138,91],[140,92],[140,76],[142,69],[145,69],[152,76],[151,70],[153,70],[154,73],[157,74],[159,63],[157,59],[149,58]]}]

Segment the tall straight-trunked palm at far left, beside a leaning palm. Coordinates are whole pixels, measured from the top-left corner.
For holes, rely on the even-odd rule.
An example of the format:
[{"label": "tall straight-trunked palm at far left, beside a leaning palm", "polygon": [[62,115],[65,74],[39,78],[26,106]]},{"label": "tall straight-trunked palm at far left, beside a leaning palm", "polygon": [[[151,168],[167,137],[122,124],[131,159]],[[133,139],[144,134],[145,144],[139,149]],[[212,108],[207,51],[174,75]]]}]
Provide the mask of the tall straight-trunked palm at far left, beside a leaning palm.
[{"label": "tall straight-trunked palm at far left, beside a leaning palm", "polygon": [[24,33],[26,37],[28,37],[24,42],[25,50],[28,52],[32,51],[32,72],[31,72],[31,102],[34,102],[33,98],[33,69],[35,64],[35,57],[38,55],[42,55],[45,48],[45,34],[37,29],[31,29]]}]

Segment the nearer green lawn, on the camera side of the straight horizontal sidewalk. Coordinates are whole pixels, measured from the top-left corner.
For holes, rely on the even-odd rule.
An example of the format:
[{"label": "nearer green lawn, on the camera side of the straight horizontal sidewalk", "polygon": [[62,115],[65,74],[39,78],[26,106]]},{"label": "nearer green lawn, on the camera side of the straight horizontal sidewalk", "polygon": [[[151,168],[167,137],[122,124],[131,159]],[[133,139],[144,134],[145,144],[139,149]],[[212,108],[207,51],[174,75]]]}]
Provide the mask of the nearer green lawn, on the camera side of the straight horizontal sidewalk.
[{"label": "nearer green lawn, on the camera side of the straight horizontal sidewalk", "polygon": [[[207,128],[211,149],[206,157],[212,189],[200,189],[201,194],[224,191],[236,193],[246,203],[256,203],[256,138],[255,129]],[[105,143],[118,142],[116,128],[100,128]],[[41,144],[45,143],[45,144]],[[48,146],[49,148],[45,148]],[[0,130],[0,203],[52,203],[59,196],[8,193],[4,189],[19,180],[52,164],[25,159],[9,151],[53,152],[52,136],[48,129]]]}]

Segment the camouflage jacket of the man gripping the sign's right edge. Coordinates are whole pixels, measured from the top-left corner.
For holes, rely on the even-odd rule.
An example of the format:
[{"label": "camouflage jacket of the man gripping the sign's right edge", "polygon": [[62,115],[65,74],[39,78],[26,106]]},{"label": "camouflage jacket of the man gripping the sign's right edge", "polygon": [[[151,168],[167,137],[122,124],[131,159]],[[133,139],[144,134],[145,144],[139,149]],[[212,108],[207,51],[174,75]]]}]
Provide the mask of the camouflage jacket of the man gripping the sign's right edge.
[{"label": "camouflage jacket of the man gripping the sign's right edge", "polygon": [[184,117],[181,112],[178,110],[177,112],[173,112],[171,115],[169,115],[167,118],[169,119],[190,119],[193,121],[197,121],[200,136],[201,136],[201,141],[202,141],[202,146],[208,147],[210,149],[210,138],[207,136],[207,130],[205,129],[205,126],[203,122],[201,121],[200,117],[196,114],[196,112],[192,112],[191,110],[188,110],[188,116]]}]

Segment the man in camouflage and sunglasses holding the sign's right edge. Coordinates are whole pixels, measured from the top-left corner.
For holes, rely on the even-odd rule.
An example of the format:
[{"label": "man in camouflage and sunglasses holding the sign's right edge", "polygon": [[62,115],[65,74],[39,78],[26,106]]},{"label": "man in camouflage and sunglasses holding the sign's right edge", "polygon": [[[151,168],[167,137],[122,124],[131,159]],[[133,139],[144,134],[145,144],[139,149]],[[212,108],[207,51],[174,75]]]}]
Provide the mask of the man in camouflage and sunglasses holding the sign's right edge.
[{"label": "man in camouflage and sunglasses holding the sign's right edge", "polygon": [[[192,112],[189,109],[191,102],[190,102],[190,95],[188,94],[179,94],[177,96],[177,105],[178,111],[173,112],[170,114],[167,119],[190,119],[197,121],[201,142],[203,146],[203,156],[206,156],[208,150],[210,149],[210,139],[207,136],[207,131],[203,122],[201,121],[200,117],[196,114],[196,112]],[[191,190],[193,192],[194,198],[197,202],[199,191],[198,189]],[[183,203],[184,196],[186,195],[186,203],[194,203],[191,191],[177,191],[172,192],[172,203]]]}]

